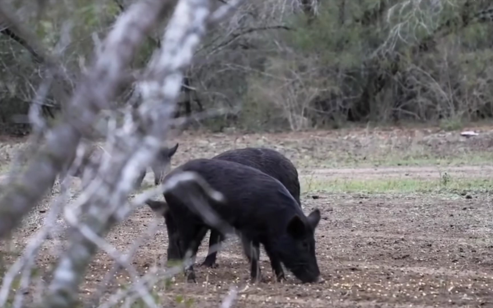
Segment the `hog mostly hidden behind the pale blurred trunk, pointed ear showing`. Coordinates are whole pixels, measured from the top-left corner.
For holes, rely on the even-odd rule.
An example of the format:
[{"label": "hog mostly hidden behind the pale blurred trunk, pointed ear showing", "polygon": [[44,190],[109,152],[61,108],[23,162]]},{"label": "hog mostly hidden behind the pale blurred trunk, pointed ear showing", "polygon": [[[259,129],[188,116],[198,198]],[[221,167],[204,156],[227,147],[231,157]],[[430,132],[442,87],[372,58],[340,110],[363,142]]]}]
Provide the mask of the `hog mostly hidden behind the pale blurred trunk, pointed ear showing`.
[{"label": "hog mostly hidden behind the pale blurred trunk, pointed ear showing", "polygon": [[[154,173],[154,183],[158,185],[165,175],[170,171],[171,158],[175,155],[178,148],[178,143],[173,147],[162,146],[158,152],[158,156],[153,164],[150,166]],[[84,153],[80,165],[72,172],[70,172],[71,165],[75,161],[76,153],[70,157],[69,163],[67,163],[62,172],[60,172],[60,179],[64,180],[67,175],[79,177],[82,180],[82,189],[87,188],[89,183],[96,177],[101,160],[103,159],[104,148],[97,144],[92,144],[88,151]],[[90,168],[87,168],[90,167]],[[135,189],[138,189],[142,185],[142,181],[145,177],[146,169],[142,170],[139,177],[136,179]],[[70,174],[69,174],[70,172]]]}]

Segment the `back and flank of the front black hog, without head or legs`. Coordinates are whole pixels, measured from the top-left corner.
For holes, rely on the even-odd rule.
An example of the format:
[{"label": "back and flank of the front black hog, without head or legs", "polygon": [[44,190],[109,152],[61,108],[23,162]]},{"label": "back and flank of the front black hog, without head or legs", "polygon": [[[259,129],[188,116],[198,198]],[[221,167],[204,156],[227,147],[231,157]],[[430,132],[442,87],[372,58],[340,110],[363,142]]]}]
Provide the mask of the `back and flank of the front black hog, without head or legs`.
[{"label": "back and flank of the front black hog, without head or legs", "polygon": [[[231,226],[253,232],[256,234],[253,236],[283,232],[293,215],[305,217],[284,185],[257,169],[230,161],[197,159],[181,165],[167,177],[180,171],[197,172],[212,188],[221,192],[226,202],[221,204],[209,200],[209,205]],[[187,188],[181,186],[176,189]],[[200,216],[188,210],[173,193],[166,193],[165,199],[178,219],[188,223],[201,221]]]}]

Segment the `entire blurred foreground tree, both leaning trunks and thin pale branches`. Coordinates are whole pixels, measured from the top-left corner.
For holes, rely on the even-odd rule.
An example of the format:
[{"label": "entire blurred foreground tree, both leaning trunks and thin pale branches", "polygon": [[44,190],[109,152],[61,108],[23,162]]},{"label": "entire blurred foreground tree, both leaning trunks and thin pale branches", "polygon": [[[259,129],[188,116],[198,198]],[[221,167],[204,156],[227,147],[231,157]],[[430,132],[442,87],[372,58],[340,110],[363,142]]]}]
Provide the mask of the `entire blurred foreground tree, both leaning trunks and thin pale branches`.
[{"label": "entire blurred foreground tree, both leaning trunks and thin pale branches", "polygon": [[[76,87],[61,123],[46,132],[45,143],[30,165],[9,183],[0,201],[0,236],[5,237],[43,196],[56,175],[73,157],[80,140],[92,131],[100,111],[111,109],[118,86],[126,80],[125,70],[144,37],[158,24],[168,9],[176,7],[157,50],[137,86],[142,103],[127,105],[123,124],[115,118],[108,121],[106,152],[97,171],[98,176],[71,204],[53,206],[46,228],[31,241],[26,258],[9,270],[0,289],[0,306],[6,303],[13,277],[21,269],[23,286],[29,284],[29,269],[33,266],[40,240],[45,240],[57,214],[63,210],[70,225],[68,247],[60,255],[48,285],[48,292],[39,301],[41,307],[73,307],[78,298],[79,283],[86,267],[98,249],[104,250],[125,268],[133,278],[134,294],[126,301],[140,297],[147,306],[155,307],[148,290],[138,282],[139,273],[132,267],[130,255],[121,255],[104,239],[116,223],[122,221],[151,197],[149,192],[128,202],[133,183],[140,171],[156,159],[161,142],[166,140],[171,115],[174,112],[183,71],[191,63],[194,51],[206,33],[207,26],[219,22],[241,0],[230,0],[211,10],[214,0],[140,0],[130,5],[116,20],[112,30],[96,53],[95,61]],[[113,112],[116,115],[116,112]],[[77,160],[77,159],[76,159]],[[73,168],[73,166],[72,166]],[[194,181],[212,199],[222,195],[211,190],[196,174],[180,173],[153,190],[172,189],[182,181]],[[65,183],[65,182],[64,182]],[[66,190],[66,184],[62,183]],[[65,201],[61,201],[62,203]],[[28,260],[28,261],[26,261]],[[25,262],[25,265],[22,264]],[[16,303],[22,299],[16,293]],[[114,297],[116,298],[116,297]]]}]

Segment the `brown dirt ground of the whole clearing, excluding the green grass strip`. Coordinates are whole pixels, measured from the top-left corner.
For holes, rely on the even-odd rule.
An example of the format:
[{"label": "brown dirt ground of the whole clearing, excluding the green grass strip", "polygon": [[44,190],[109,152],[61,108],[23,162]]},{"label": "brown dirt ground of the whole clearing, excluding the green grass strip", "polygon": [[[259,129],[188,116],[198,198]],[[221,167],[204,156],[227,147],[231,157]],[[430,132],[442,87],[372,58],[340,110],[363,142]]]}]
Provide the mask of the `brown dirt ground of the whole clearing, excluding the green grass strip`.
[{"label": "brown dirt ground of the whole clearing, excluding the green grass strip", "polygon": [[[493,130],[479,129],[477,138],[438,130],[353,130],[297,134],[184,134],[174,166],[191,158],[211,157],[229,148],[270,146],[292,159],[300,180],[317,174],[327,178],[439,177],[436,166],[380,167],[378,157],[403,157],[414,151],[425,157],[447,158],[489,152]],[[1,149],[0,149],[1,153]],[[348,153],[352,157],[348,161]],[[1,154],[0,154],[1,155]],[[9,154],[12,155],[12,154]],[[354,158],[355,157],[355,158]],[[372,157],[370,160],[369,157]],[[387,156],[388,157],[388,156]],[[353,162],[361,167],[348,167]],[[365,161],[371,161],[366,164]],[[328,168],[340,164],[344,168]],[[366,165],[365,165],[366,164]],[[452,176],[488,178],[493,164],[482,162],[442,166]],[[149,172],[146,180],[151,181]],[[236,240],[229,240],[218,254],[216,269],[195,267],[197,284],[185,283],[178,275],[157,295],[162,307],[219,307],[232,285],[239,288],[233,307],[492,307],[493,308],[493,206],[491,191],[448,193],[327,193],[302,191],[305,213],[322,212],[316,231],[318,265],[324,283],[300,284],[292,274],[287,281],[274,282],[270,264],[262,251],[262,274],[270,282],[249,284],[246,258]],[[46,205],[36,208],[42,220]],[[34,214],[33,214],[34,215]],[[132,262],[144,274],[166,254],[167,235],[162,219],[146,206],[114,228],[107,240],[125,251],[153,220],[157,233],[141,245]],[[19,251],[39,224],[17,231],[12,245],[3,251]],[[206,237],[208,239],[208,237]],[[64,238],[62,237],[62,242]],[[63,243],[62,243],[63,244]],[[202,243],[198,260],[203,261],[208,240]],[[12,248],[14,247],[14,248]],[[38,267],[49,279],[49,269],[59,252],[54,240],[48,242],[38,259]],[[101,281],[113,264],[98,253],[82,285],[83,301],[101,288]],[[118,274],[109,289],[128,283]]]}]

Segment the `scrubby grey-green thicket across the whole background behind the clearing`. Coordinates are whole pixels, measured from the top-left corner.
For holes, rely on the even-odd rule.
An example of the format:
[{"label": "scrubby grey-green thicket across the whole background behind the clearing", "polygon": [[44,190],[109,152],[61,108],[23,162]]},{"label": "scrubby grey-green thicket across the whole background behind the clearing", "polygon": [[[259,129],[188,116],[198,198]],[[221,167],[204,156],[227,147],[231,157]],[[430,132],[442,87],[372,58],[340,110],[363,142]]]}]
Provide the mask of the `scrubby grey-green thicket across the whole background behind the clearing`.
[{"label": "scrubby grey-green thicket across the whole background behind the clearing", "polygon": [[[66,78],[55,80],[45,102],[50,105],[43,107],[51,117],[63,109],[60,98],[70,96],[98,37],[127,3],[11,2],[43,48],[63,50]],[[44,2],[43,10],[35,9]],[[454,128],[490,118],[492,17],[489,0],[248,1],[197,50],[180,112],[237,110],[202,122],[214,130],[402,120],[441,121]],[[29,130],[19,122],[27,122],[23,115],[47,60],[15,29],[1,30],[1,131],[18,134]],[[64,33],[70,33],[70,41],[64,41]],[[159,44],[158,33],[148,37],[133,63],[136,76]],[[131,90],[129,80],[119,100],[126,101]]]}]

